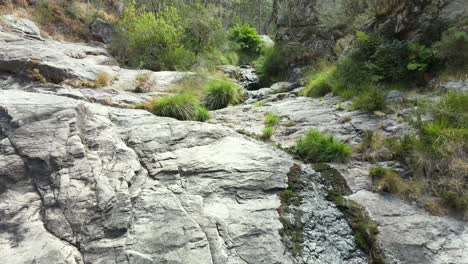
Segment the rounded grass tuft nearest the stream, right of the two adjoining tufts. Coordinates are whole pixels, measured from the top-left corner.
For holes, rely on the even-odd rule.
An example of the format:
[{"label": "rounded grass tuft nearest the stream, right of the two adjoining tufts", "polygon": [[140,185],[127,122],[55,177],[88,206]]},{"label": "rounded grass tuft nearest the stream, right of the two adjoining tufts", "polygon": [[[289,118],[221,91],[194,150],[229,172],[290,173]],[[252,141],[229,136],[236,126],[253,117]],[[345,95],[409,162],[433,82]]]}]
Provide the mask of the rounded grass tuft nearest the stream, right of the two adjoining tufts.
[{"label": "rounded grass tuft nearest the stream, right of the two adjoining tufts", "polygon": [[227,80],[212,80],[207,84],[203,103],[210,110],[218,110],[240,103],[242,96],[242,88],[238,85]]}]

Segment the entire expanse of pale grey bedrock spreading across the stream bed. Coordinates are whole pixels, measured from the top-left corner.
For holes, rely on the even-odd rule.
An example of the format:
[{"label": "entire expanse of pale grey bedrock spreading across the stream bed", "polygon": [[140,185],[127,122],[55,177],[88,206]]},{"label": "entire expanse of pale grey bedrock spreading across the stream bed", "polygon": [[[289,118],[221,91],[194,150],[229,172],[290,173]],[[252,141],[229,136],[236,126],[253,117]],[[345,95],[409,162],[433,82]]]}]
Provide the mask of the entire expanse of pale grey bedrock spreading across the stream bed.
[{"label": "entire expanse of pale grey bedrock spreading across the stream bed", "polygon": [[[0,28],[3,262],[368,262],[322,175],[251,135],[271,112],[281,117],[273,142],[283,148],[311,128],[356,145],[364,130],[404,130],[397,114],[343,111],[337,98],[300,97],[298,85],[281,83],[249,91],[246,104],[213,112],[211,123],[156,117],[128,107],[170,94],[192,73],[121,69],[102,46],[44,39],[18,24]],[[56,84],[30,81],[32,69]],[[243,71],[241,81],[255,82]],[[116,81],[61,83],[102,72]],[[154,90],[133,92],[140,74]],[[379,225],[388,263],[468,263],[465,223],[372,193],[367,162],[331,166]],[[284,204],[293,184],[300,203]]]}]

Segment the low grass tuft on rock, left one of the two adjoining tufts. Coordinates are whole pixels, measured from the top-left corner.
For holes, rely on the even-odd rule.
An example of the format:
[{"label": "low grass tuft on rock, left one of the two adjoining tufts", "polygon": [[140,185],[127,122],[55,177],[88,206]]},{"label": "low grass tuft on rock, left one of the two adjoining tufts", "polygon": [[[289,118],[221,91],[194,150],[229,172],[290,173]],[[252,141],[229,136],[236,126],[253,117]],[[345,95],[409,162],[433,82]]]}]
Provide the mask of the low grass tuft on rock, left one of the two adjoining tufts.
[{"label": "low grass tuft on rock, left one of the two adjoining tufts", "polygon": [[172,117],[178,120],[194,120],[198,107],[198,101],[194,96],[179,94],[153,99],[151,112],[157,116]]}]

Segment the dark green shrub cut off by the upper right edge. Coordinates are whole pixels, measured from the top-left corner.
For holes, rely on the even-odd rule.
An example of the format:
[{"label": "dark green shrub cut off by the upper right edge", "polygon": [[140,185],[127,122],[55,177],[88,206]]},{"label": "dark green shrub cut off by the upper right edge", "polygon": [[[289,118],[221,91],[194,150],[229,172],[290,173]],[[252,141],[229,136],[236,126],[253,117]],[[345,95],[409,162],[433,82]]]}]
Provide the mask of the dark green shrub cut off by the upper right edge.
[{"label": "dark green shrub cut off by the upper right edge", "polygon": [[468,32],[461,27],[452,27],[442,34],[435,44],[437,56],[451,69],[468,67]]}]

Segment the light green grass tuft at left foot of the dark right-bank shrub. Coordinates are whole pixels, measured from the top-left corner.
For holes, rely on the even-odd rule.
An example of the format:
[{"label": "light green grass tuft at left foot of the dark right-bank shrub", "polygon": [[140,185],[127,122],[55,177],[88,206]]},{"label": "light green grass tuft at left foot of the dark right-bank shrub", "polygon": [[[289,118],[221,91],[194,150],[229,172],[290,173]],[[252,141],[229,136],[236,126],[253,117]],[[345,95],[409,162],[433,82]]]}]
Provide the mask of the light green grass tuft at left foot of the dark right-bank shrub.
[{"label": "light green grass tuft at left foot of the dark right-bank shrub", "polygon": [[321,97],[332,92],[335,73],[336,66],[321,65],[319,70],[308,78],[307,86],[302,93],[309,97]]}]

